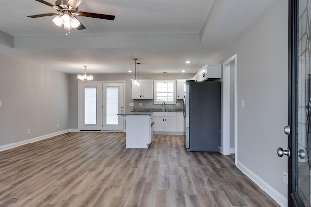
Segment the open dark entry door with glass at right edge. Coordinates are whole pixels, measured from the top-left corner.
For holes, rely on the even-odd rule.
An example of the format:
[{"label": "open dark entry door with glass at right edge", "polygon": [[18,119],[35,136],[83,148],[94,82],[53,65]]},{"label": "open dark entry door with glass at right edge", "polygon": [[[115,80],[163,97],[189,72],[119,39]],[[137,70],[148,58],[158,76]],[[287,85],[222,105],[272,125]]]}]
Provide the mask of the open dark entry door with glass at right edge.
[{"label": "open dark entry door with glass at right edge", "polygon": [[310,207],[311,0],[289,0],[288,114],[288,206]]}]

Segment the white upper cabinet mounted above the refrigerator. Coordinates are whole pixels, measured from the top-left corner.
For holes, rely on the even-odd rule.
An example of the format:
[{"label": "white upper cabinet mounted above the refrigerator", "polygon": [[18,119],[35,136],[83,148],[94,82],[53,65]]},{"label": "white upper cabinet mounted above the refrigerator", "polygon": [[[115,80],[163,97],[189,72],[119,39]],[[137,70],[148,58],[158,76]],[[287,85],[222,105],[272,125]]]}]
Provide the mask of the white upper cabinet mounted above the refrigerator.
[{"label": "white upper cabinet mounted above the refrigerator", "polygon": [[222,64],[206,64],[193,77],[198,82],[207,79],[220,79],[222,77]]}]

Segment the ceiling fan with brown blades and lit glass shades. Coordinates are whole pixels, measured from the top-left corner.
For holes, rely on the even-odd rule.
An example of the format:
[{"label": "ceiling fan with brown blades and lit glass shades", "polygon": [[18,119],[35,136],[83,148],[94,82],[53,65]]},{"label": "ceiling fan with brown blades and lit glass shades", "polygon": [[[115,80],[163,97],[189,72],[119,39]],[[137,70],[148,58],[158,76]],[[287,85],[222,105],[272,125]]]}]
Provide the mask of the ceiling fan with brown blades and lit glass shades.
[{"label": "ceiling fan with brown blades and lit glass shades", "polygon": [[105,15],[105,14],[78,11],[78,6],[82,2],[82,0],[57,0],[55,2],[55,5],[46,2],[44,0],[35,0],[35,1],[53,7],[54,9],[57,10],[57,12],[39,15],[30,15],[27,17],[38,18],[43,16],[58,15],[53,19],[53,22],[59,27],[64,25],[64,29],[69,31],[73,28],[77,28],[78,30],[86,29],[85,26],[73,15],[98,18],[98,19],[107,19],[107,20],[115,19],[114,15]]}]

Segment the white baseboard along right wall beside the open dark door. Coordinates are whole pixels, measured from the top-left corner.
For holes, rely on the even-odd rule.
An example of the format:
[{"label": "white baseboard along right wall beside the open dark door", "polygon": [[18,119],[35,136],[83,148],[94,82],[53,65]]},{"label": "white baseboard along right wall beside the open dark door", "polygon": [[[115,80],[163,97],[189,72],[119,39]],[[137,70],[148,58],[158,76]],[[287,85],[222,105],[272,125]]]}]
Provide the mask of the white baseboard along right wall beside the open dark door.
[{"label": "white baseboard along right wall beside the open dark door", "polygon": [[263,191],[265,191],[271,198],[273,198],[276,203],[278,203],[281,207],[287,207],[287,198],[276,191],[273,187],[271,187],[268,183],[262,180],[258,175],[253,173],[250,169],[244,166],[239,160],[237,161],[237,167],[247,176],[249,177],[256,185],[259,186]]}]

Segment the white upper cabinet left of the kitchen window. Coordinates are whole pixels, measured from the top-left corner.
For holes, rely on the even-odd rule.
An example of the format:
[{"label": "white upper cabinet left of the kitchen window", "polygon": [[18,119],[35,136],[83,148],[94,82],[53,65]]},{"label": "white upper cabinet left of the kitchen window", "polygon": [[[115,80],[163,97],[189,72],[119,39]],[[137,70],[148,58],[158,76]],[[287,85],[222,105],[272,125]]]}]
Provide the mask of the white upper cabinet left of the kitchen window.
[{"label": "white upper cabinet left of the kitchen window", "polygon": [[140,86],[132,80],[132,99],[153,99],[153,80],[139,80]]}]

